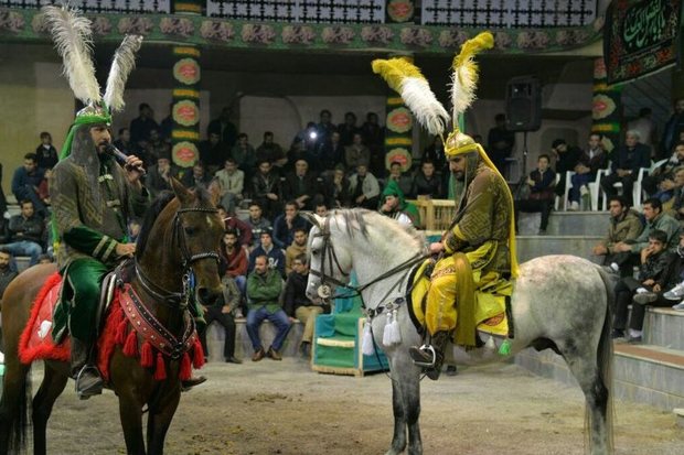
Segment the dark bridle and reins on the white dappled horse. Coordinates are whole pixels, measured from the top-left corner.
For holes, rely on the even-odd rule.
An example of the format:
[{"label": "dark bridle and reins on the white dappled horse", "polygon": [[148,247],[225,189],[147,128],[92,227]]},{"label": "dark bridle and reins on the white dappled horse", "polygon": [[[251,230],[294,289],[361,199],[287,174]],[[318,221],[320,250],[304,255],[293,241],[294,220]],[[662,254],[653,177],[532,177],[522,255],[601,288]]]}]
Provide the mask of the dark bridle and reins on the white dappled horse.
[{"label": "dark bridle and reins on the white dappled horse", "polygon": [[[322,299],[336,299],[336,297],[355,297],[355,296],[360,296],[361,297],[361,307],[363,310],[367,310],[366,308],[366,304],[365,301],[363,299],[363,294],[362,292],[364,290],[366,290],[367,288],[372,286],[373,284],[376,284],[383,280],[386,280],[389,277],[393,277],[399,272],[403,272],[404,270],[408,270],[412,267],[423,262],[425,259],[427,259],[430,254],[429,253],[418,253],[414,257],[412,257],[410,259],[402,262],[400,264],[387,270],[386,272],[380,274],[378,277],[375,277],[373,280],[368,281],[365,284],[362,284],[360,286],[353,286],[349,283],[342,282],[341,280],[338,280],[336,278],[325,274],[325,259],[328,259],[328,270],[330,270],[330,273],[334,273],[333,271],[333,264],[334,267],[336,267],[338,272],[345,278],[349,278],[349,273],[345,273],[342,270],[342,267],[340,266],[340,261],[338,260],[338,254],[335,253],[335,248],[332,245],[332,241],[330,239],[330,217],[325,218],[325,223],[323,224],[323,226],[319,226],[319,232],[317,232],[313,238],[320,237],[323,239],[323,247],[322,247],[322,251],[321,251],[321,270],[309,270],[309,273],[311,273],[314,277],[318,277],[321,280],[321,286],[318,290],[318,294],[319,296],[321,296]],[[389,293],[392,293],[392,291],[400,283],[400,280],[397,281],[397,283],[392,286],[389,289],[389,291],[387,291],[387,295],[389,295]],[[351,291],[348,294],[344,295],[332,295],[332,291],[330,289],[329,284],[334,284],[338,288],[343,288],[348,291]],[[385,295],[383,297],[386,299],[387,295]]]}]

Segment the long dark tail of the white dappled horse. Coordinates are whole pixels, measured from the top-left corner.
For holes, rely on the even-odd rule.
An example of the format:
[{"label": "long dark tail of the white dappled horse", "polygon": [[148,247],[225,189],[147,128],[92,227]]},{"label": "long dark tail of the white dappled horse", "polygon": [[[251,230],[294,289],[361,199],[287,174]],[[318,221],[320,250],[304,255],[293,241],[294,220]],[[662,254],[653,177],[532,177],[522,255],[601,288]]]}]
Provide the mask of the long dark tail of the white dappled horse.
[{"label": "long dark tail of the white dappled horse", "polygon": [[612,404],[612,308],[614,307],[616,301],[616,277],[611,273],[608,273],[605,269],[597,267],[599,274],[601,275],[601,280],[603,281],[603,285],[606,286],[606,312],[603,316],[603,326],[601,328],[601,336],[599,338],[598,350],[597,350],[597,367],[599,372],[599,380],[603,387],[603,390],[597,391],[598,394],[605,393],[606,400],[606,443],[608,453],[613,453],[614,444],[613,444],[613,433],[612,433],[612,418],[613,418],[613,404]]}]

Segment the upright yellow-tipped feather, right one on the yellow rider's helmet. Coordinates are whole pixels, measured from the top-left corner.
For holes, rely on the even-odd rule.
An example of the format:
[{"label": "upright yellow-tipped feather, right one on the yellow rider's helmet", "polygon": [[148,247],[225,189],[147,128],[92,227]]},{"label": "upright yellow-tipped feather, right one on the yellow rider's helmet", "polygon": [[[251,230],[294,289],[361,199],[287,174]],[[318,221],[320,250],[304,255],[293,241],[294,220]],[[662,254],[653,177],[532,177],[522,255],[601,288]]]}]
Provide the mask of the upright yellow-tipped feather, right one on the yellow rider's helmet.
[{"label": "upright yellow-tipped feather, right one on the yellow rider's helmet", "polygon": [[494,36],[490,32],[482,32],[468,40],[461,46],[461,53],[453,58],[453,77],[451,80],[451,104],[453,118],[466,111],[475,99],[478,86],[478,65],[474,56],[481,51],[494,46]]}]

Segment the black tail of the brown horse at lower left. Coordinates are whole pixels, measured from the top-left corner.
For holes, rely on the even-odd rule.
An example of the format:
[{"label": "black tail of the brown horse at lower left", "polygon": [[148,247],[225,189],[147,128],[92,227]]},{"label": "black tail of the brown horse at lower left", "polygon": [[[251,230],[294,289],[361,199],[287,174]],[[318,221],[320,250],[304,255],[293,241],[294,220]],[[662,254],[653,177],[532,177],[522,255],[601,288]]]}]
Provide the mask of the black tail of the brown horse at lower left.
[{"label": "black tail of the brown horse at lower left", "polygon": [[[0,398],[0,455],[18,454],[26,445],[26,430],[31,426],[31,367],[20,365],[19,358],[9,359],[2,377]],[[12,365],[14,364],[14,365]]]}]

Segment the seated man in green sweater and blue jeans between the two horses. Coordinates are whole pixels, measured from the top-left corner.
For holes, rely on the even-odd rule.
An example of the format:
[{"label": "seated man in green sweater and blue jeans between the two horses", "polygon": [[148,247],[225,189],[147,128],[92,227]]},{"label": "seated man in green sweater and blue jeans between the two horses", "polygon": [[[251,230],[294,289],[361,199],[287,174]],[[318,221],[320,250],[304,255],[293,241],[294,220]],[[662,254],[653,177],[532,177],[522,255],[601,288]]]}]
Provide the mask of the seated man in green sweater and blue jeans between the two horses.
[{"label": "seated man in green sweater and blue jeans between the two horses", "polygon": [[[264,236],[264,234],[261,235]],[[264,238],[261,238],[264,243]],[[247,334],[252,340],[254,355],[252,361],[259,361],[265,356],[274,360],[282,360],[280,349],[290,331],[291,321],[280,304],[282,279],[268,267],[268,258],[259,254],[255,258],[254,271],[247,279]],[[264,319],[268,319],[276,327],[276,337],[268,350],[264,350],[259,337],[259,327]]]}]

